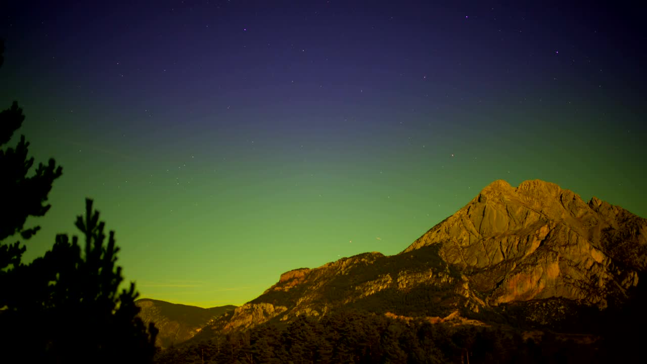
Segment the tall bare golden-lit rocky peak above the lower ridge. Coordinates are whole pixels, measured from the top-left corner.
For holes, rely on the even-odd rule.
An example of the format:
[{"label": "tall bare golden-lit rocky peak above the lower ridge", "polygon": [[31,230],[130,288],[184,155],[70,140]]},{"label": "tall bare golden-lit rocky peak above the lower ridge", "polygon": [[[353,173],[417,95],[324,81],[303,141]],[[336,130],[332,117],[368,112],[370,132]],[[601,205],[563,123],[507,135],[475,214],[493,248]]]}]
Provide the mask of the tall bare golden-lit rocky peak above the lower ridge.
[{"label": "tall bare golden-lit rocky peak above the lower ridge", "polygon": [[441,245],[489,304],[563,297],[604,307],[637,284],[646,231],[647,220],[554,183],[495,181],[405,252]]}]

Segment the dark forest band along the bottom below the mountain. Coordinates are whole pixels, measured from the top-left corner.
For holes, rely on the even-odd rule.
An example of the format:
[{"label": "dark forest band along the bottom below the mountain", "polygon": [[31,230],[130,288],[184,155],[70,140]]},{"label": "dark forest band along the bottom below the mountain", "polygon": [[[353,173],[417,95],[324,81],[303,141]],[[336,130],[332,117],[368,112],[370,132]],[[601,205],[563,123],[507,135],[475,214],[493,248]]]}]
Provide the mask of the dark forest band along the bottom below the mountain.
[{"label": "dark forest band along the bottom below the mountain", "polygon": [[374,313],[298,317],[284,326],[246,332],[160,352],[166,363],[603,363],[597,348],[547,334],[536,343],[520,332],[402,321]]}]

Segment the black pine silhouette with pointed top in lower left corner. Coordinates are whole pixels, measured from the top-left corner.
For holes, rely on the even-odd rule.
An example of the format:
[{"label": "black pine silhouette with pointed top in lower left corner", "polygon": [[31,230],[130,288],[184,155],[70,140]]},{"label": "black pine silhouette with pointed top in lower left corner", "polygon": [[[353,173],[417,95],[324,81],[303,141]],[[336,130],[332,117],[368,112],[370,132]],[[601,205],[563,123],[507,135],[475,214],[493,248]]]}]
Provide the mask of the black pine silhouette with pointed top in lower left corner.
[{"label": "black pine silhouette with pointed top in lower left corner", "polygon": [[23,295],[8,297],[0,315],[1,355],[34,363],[150,362],[158,330],[137,317],[134,283],[118,292],[115,232],[105,245],[105,223],[91,199],[76,227],[83,249],[77,236],[59,234],[45,256],[14,269],[12,284]]}]

